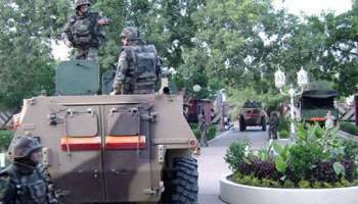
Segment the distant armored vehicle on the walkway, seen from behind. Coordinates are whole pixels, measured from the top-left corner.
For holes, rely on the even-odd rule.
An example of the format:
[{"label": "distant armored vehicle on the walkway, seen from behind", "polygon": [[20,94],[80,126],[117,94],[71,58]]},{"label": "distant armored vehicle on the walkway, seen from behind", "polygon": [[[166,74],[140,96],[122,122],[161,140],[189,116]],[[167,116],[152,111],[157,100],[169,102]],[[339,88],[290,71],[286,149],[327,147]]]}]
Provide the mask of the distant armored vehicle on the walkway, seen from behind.
[{"label": "distant armored vehicle on the walkway, seen from behind", "polygon": [[261,126],[266,131],[266,112],[262,104],[257,101],[246,101],[240,109],[239,115],[240,131],[245,131],[247,126]]}]

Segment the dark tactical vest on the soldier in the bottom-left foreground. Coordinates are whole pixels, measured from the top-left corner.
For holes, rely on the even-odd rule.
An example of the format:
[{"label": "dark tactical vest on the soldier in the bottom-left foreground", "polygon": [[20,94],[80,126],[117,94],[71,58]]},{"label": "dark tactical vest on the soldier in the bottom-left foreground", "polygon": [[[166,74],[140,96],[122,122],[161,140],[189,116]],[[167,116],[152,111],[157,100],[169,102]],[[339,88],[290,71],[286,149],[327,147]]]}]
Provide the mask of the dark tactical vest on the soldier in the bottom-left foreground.
[{"label": "dark tactical vest on the soldier in the bottom-left foreground", "polygon": [[16,188],[16,204],[45,204],[47,203],[47,182],[39,169],[34,173],[23,175],[13,168],[8,170],[10,182]]}]

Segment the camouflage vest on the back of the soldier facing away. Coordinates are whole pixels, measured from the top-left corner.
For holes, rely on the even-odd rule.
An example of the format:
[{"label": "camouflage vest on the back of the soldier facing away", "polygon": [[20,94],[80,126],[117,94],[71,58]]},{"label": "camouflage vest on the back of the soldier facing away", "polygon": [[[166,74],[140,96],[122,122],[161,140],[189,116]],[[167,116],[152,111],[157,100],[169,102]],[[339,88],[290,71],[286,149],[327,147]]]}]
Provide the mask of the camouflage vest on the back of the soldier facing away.
[{"label": "camouflage vest on the back of the soldier facing away", "polygon": [[131,92],[146,94],[155,92],[159,80],[160,67],[158,53],[154,45],[125,46],[130,77],[133,78]]}]

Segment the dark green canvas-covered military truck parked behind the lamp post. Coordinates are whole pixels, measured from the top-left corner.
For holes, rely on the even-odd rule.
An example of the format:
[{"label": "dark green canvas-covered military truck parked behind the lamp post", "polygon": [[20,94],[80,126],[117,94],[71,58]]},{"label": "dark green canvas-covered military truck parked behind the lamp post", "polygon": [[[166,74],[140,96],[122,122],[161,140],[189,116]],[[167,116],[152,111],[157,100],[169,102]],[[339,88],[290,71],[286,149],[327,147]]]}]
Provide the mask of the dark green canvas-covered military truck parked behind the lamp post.
[{"label": "dark green canvas-covered military truck parked behind the lamp post", "polygon": [[305,122],[324,123],[328,111],[338,119],[338,110],[334,108],[336,90],[306,90],[300,100],[301,120]]}]

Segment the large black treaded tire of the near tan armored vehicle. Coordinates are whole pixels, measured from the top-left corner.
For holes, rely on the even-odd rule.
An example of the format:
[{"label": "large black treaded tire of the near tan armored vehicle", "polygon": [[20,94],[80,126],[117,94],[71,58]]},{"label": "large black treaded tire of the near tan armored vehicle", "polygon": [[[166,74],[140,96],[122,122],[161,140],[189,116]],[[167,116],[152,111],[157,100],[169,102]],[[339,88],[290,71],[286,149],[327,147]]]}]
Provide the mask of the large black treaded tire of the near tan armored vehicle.
[{"label": "large black treaded tire of the near tan armored vehicle", "polygon": [[192,157],[175,158],[171,182],[172,204],[198,203],[198,162]]}]

